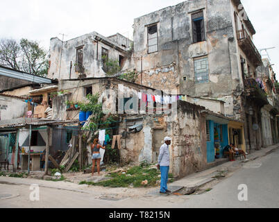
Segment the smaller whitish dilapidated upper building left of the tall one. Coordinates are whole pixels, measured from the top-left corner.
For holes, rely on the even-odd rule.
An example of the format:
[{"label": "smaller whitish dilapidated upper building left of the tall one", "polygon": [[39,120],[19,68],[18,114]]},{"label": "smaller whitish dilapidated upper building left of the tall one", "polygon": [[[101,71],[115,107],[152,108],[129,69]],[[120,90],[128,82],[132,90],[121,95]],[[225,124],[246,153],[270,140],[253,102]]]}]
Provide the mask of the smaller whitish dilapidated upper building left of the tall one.
[{"label": "smaller whitish dilapidated upper building left of the tall one", "polygon": [[129,64],[131,44],[131,40],[119,33],[104,37],[92,32],[66,42],[54,37],[50,42],[48,77],[58,80],[105,77],[105,60],[118,61],[121,69]]}]

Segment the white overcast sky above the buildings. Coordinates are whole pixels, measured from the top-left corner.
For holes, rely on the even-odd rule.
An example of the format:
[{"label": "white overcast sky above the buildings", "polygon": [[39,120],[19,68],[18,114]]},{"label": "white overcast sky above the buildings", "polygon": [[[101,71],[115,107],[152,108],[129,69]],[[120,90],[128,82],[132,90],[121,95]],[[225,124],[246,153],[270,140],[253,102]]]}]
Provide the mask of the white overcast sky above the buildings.
[{"label": "white overcast sky above the buildings", "polygon": [[[181,0],[1,0],[0,38],[26,37],[49,49],[51,37],[69,40],[92,31],[109,36],[121,33],[133,38],[133,19]],[[257,33],[258,49],[269,51],[279,79],[278,0],[242,0]],[[264,53],[264,52],[262,52]]]}]

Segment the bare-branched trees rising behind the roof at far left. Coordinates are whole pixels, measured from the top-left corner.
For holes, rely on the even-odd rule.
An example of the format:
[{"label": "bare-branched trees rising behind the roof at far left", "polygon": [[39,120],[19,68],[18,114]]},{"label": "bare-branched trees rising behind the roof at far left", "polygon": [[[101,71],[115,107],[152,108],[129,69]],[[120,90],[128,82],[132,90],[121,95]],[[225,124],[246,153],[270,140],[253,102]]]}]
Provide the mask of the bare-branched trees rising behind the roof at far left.
[{"label": "bare-branched trees rising behind the roof at far left", "polygon": [[46,76],[49,69],[47,51],[36,41],[0,40],[0,65],[37,76]]}]

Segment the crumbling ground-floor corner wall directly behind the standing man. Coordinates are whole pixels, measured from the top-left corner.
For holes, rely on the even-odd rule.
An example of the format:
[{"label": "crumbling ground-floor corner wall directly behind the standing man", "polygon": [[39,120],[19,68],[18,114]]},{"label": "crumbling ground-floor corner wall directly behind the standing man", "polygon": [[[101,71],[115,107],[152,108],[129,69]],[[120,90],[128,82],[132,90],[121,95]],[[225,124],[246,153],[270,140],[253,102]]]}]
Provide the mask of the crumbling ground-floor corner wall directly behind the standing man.
[{"label": "crumbling ground-floor corner wall directly behind the standing man", "polygon": [[[144,116],[143,129],[139,133],[128,133],[121,139],[120,158],[122,162],[139,164],[157,162],[155,151],[165,136],[172,139],[170,150],[170,172],[179,177],[187,176],[206,167],[205,117],[199,112],[202,107],[180,102],[178,117],[167,121],[167,115]],[[179,120],[179,121],[178,121]],[[125,123],[121,123],[119,134],[124,133]],[[162,135],[155,135],[155,130]],[[155,147],[156,146],[156,147]],[[158,146],[158,147],[157,147]]]}]

